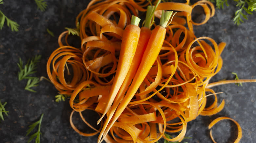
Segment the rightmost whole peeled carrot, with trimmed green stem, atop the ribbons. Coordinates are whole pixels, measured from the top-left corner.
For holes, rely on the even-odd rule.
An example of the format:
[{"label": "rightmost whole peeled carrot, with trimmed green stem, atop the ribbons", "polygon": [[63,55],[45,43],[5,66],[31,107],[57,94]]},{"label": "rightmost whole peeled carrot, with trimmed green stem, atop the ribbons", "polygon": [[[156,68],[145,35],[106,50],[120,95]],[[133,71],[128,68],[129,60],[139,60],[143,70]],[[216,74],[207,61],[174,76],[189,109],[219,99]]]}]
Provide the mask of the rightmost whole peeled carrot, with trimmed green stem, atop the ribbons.
[{"label": "rightmost whole peeled carrot, with trimmed green stem, atop the ribbons", "polygon": [[[155,29],[152,31],[150,39],[148,41],[147,47],[145,52],[142,56],[141,63],[139,65],[138,71],[134,76],[134,80],[129,87],[124,99],[118,105],[117,110],[115,112],[114,118],[108,124],[107,129],[104,131],[103,138],[101,139],[100,136],[98,138],[98,142],[103,141],[104,137],[107,135],[110,128],[113,126],[115,121],[124,111],[128,103],[132,100],[133,96],[137,92],[139,86],[143,82],[144,78],[148,74],[149,70],[151,69],[152,65],[156,61],[158,54],[160,53],[161,47],[163,45],[163,41],[165,38],[166,29],[165,27],[169,24],[169,19],[171,18],[172,11],[162,12],[162,17],[160,19],[160,25],[157,25]],[[104,123],[106,124],[106,122]],[[103,130],[101,130],[102,132]]]}]

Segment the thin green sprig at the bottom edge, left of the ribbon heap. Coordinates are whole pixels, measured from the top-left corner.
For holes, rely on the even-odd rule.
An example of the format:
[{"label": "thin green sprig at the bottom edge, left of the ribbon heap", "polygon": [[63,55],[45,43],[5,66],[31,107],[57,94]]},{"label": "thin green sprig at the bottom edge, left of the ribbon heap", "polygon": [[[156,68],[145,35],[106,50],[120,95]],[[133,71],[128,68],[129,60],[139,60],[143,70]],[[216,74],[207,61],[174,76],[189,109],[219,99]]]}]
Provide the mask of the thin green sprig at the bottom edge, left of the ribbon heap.
[{"label": "thin green sprig at the bottom edge, left of the ribbon heap", "polygon": [[35,137],[36,137],[36,138],[35,138],[35,143],[40,143],[40,135],[42,134],[42,133],[40,132],[40,128],[41,128],[41,123],[42,123],[43,116],[44,116],[44,114],[41,115],[41,118],[40,118],[38,121],[34,122],[32,125],[29,126],[30,128],[28,129],[26,135],[29,135],[29,134],[31,133],[31,131],[33,131],[34,128],[35,128],[37,125],[38,125],[38,130],[37,130],[37,132],[34,133],[33,135],[30,135],[30,138],[29,138],[29,140],[28,140],[28,143],[31,142],[32,139],[35,138]]}]

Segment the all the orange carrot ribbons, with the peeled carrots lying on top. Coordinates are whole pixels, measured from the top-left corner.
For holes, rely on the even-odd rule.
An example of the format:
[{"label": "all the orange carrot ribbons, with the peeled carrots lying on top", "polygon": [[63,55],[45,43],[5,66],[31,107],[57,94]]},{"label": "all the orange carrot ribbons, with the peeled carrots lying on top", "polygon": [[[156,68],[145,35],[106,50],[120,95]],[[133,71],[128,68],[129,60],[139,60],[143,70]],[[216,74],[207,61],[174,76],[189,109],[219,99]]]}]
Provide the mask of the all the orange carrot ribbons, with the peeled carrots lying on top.
[{"label": "all the orange carrot ribbons, with the peeled carrots lying on top", "polygon": [[[47,62],[47,73],[55,88],[70,96],[70,123],[77,133],[99,134],[98,142],[107,143],[154,143],[160,138],[181,141],[187,122],[224,108],[224,100],[218,104],[217,93],[210,87],[255,82],[230,80],[209,84],[221,70],[220,55],[225,43],[217,44],[209,37],[197,38],[193,32],[193,25],[205,24],[214,15],[214,5],[206,0],[189,4],[189,0],[92,0],[78,14],[81,47],[71,46],[71,35],[65,31],[59,36],[59,48]],[[176,13],[164,27],[157,23],[133,23],[134,17],[145,18],[150,5],[157,5],[151,13],[155,21],[167,10]],[[204,9],[205,19],[201,23],[191,19],[196,6]],[[214,102],[207,107],[206,93],[214,96]],[[93,110],[101,117],[99,129],[84,119],[85,110]],[[79,112],[95,132],[79,131],[72,121],[74,112]],[[239,142],[242,129],[233,121],[239,132],[235,142]],[[165,133],[178,135],[169,139]]]}]

